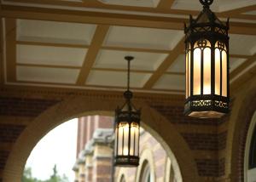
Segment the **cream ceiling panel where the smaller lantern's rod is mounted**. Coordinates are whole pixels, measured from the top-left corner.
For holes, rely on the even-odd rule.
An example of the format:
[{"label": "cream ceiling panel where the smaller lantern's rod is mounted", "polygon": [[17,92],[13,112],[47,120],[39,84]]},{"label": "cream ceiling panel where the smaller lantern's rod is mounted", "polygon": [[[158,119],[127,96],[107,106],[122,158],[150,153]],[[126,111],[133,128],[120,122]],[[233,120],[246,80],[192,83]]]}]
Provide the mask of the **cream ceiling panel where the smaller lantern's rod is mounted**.
[{"label": "cream ceiling panel where the smaller lantern's rod is mounted", "polygon": [[101,50],[97,56],[94,67],[97,68],[127,68],[126,55],[134,56],[131,69],[154,71],[166,59],[167,54],[128,52],[115,50]]}]

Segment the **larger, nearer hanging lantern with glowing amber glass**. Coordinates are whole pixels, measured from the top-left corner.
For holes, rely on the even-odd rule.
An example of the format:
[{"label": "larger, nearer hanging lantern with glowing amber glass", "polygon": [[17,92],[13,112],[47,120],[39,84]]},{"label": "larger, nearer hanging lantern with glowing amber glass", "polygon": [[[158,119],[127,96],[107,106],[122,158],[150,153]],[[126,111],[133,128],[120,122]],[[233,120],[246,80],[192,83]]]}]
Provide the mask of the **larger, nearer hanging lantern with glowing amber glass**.
[{"label": "larger, nearer hanging lantern with glowing amber glass", "polygon": [[229,20],[218,20],[200,0],[201,14],[190,15],[185,25],[186,101],[184,113],[191,117],[222,117],[229,111]]}]

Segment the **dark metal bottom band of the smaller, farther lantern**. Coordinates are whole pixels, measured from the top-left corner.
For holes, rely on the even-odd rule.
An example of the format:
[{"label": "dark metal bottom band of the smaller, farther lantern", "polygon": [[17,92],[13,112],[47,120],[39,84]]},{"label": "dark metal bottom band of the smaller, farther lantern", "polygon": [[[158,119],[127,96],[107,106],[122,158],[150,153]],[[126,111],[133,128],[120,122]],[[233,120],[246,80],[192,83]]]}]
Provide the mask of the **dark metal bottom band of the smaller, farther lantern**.
[{"label": "dark metal bottom band of the smaller, farther lantern", "polygon": [[137,167],[139,165],[138,156],[115,156],[114,166],[118,167]]}]

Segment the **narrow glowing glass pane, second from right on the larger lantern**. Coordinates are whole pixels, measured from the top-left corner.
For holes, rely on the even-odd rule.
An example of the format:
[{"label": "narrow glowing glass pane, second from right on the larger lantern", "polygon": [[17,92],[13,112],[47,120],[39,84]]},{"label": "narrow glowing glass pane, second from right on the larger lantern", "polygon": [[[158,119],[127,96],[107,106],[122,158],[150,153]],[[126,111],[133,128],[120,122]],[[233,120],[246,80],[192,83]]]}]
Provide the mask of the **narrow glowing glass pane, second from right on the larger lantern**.
[{"label": "narrow glowing glass pane, second from right on the larger lantern", "polygon": [[215,48],[215,94],[220,95],[220,51]]}]

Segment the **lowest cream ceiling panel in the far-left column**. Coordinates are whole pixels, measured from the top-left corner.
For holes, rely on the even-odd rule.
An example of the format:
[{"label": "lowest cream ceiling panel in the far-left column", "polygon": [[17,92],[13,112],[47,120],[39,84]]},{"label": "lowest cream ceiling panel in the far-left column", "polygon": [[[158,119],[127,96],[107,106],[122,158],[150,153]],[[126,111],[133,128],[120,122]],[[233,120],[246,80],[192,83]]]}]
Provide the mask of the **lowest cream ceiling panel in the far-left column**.
[{"label": "lowest cream ceiling panel in the far-left column", "polygon": [[17,66],[17,80],[27,82],[75,83],[79,69]]}]

